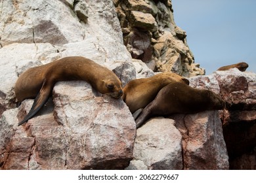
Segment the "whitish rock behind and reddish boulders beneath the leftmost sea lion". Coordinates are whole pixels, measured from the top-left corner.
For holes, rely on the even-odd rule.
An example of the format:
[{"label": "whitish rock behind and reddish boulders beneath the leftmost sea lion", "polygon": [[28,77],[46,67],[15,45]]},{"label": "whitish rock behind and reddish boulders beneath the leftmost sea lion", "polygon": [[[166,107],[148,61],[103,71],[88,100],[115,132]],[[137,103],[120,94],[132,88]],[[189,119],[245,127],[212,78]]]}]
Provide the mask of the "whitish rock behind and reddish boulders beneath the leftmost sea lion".
[{"label": "whitish rock behind and reddish boulders beneath the leftmost sea lion", "polygon": [[135,78],[114,3],[2,1],[0,14],[1,169],[127,167],[135,124],[123,101],[95,94],[85,82],[64,89],[58,85],[54,104],[49,100],[37,117],[17,127],[32,100],[16,108],[14,96],[22,72],[65,56],[93,59],[114,71],[123,85]]}]

